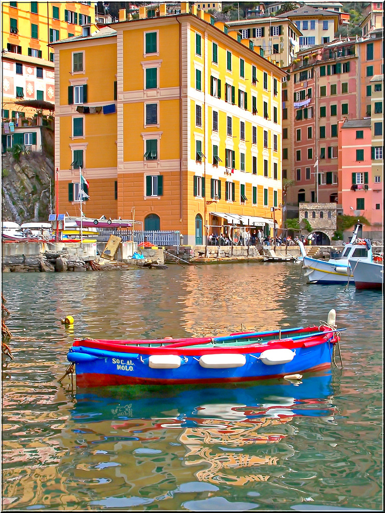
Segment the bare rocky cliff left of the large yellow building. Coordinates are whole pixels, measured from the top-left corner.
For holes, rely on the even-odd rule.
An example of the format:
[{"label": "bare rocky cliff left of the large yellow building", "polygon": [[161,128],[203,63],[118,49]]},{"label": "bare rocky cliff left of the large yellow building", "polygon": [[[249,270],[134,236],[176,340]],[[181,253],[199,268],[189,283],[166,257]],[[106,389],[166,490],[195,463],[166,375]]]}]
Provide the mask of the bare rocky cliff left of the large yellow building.
[{"label": "bare rocky cliff left of the large yellow building", "polygon": [[2,219],[48,221],[54,210],[54,165],[50,152],[17,155],[8,151],[2,164]]}]

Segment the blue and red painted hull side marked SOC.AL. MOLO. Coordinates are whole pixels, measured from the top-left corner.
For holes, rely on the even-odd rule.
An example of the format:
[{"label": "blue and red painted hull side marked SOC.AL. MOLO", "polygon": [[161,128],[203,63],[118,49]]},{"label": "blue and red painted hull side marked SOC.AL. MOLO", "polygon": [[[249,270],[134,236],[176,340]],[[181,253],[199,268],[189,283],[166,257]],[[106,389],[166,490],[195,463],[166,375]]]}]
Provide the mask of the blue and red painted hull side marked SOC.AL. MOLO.
[{"label": "blue and red painted hull side marked SOC.AL. MOLO", "polygon": [[[81,342],[80,342],[81,343]],[[321,340],[306,339],[306,342],[289,341],[253,347],[190,348],[174,347],[134,347],[121,346],[118,350],[99,349],[97,343],[72,346],[68,360],[75,362],[76,386],[81,388],[114,385],[175,385],[175,384],[218,384],[251,382],[263,379],[280,378],[287,374],[306,371],[319,371],[331,366],[333,334]],[[261,354],[269,348],[293,351],[292,361],[278,364],[263,363]],[[274,349],[273,349],[274,350]],[[177,368],[151,368],[150,355],[168,355],[171,359],[180,357]],[[202,365],[201,357],[213,356],[218,362],[237,360],[244,357],[244,364],[213,368]],[[201,362],[201,363],[200,363]],[[235,365],[235,364],[234,364]]]}]

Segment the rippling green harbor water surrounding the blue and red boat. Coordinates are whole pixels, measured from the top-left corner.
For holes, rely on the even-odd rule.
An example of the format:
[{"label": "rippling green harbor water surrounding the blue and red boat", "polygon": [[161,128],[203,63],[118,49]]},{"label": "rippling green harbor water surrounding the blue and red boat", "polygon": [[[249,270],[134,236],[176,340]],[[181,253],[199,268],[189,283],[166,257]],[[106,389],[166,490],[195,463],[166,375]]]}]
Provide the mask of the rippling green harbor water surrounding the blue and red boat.
[{"label": "rippling green harbor water surrounding the blue and red boat", "polygon": [[[382,510],[382,293],[300,264],[3,274],[3,510]],[[77,389],[74,337],[318,325],[343,367],[208,387]],[[74,318],[73,326],[61,320]]]}]

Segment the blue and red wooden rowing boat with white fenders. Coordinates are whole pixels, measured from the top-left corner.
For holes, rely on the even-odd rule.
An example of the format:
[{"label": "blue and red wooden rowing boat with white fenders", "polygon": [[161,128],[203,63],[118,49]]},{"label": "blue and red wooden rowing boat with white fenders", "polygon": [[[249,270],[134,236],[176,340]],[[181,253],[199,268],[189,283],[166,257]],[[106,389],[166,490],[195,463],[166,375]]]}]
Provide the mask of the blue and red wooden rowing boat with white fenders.
[{"label": "blue and red wooden rowing boat with white fenders", "polygon": [[157,340],[75,339],[78,387],[247,382],[331,366],[335,310],[320,326]]}]

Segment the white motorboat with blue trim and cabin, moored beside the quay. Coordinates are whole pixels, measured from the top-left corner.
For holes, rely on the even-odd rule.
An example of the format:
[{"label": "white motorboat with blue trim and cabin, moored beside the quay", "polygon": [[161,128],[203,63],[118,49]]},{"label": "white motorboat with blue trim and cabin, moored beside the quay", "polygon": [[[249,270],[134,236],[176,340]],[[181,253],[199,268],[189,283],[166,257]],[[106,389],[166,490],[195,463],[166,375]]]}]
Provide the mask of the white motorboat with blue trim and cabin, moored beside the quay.
[{"label": "white motorboat with blue trim and cabin, moored beside the quay", "polygon": [[359,239],[358,230],[361,225],[357,224],[351,241],[345,245],[339,258],[330,260],[318,260],[307,257],[306,250],[301,241],[298,242],[303,257],[302,267],[305,270],[305,277],[309,283],[333,284],[333,283],[354,283],[350,259],[372,263],[372,245],[369,239]]}]

